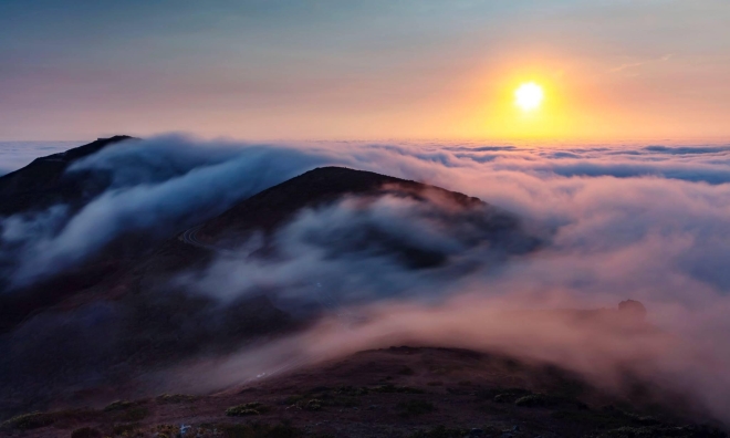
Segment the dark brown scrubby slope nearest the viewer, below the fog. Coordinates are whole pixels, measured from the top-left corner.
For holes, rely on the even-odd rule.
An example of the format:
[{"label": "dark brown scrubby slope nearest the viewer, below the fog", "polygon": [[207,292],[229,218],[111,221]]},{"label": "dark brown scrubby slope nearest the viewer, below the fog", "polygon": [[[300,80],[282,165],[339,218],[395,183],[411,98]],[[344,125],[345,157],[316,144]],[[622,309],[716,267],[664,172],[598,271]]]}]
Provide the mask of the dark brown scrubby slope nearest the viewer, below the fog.
[{"label": "dark brown scrubby slope nearest the viewer, below the fog", "polygon": [[651,390],[602,392],[555,366],[498,354],[399,346],[222,394],[38,413],[0,427],[28,437],[726,436],[692,424],[665,401]]}]

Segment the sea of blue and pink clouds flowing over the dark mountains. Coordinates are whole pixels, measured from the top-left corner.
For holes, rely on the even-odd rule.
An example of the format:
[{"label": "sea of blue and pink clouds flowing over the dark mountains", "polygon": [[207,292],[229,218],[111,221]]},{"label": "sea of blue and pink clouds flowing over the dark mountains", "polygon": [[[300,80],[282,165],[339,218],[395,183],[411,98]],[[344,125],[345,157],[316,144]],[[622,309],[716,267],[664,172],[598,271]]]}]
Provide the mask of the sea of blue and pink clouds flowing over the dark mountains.
[{"label": "sea of blue and pink clouds flowing over the dark mountains", "polygon": [[[185,226],[192,226],[264,188],[332,165],[479,197],[517,215],[543,244],[500,259],[496,269],[490,249],[470,241],[473,230],[434,220],[434,211],[406,199],[365,205],[344,199],[303,211],[275,236],[285,258],[251,260],[246,242],[240,257],[227,252],[181,279],[194,293],[221,302],[261,288],[281,291],[283,299],[321,301],[324,293],[336,322],[259,354],[247,351],[225,368],[218,363],[207,375],[226,377],[198,388],[241,382],[282,357],[300,363],[414,341],[499,348],[606,382],[613,382],[609,369],[632,369],[691,394],[712,416],[728,419],[730,145],[262,145],[161,136],[108,147],[75,164],[69,171],[108,173],[112,186],[76,211],[55,206],[3,218],[0,251],[13,249],[4,254],[14,258],[9,275],[19,284],[32,282],[87,260],[123,232],[164,234],[170,231],[166,225],[179,227],[180,217],[191,218]],[[362,227],[439,249],[453,263],[413,270],[380,252],[332,258],[325,251],[334,242],[323,230],[346,239]],[[457,269],[461,265],[470,268]],[[511,323],[493,314],[615,306],[627,298],[646,304],[660,334],[617,336],[562,320]]]}]

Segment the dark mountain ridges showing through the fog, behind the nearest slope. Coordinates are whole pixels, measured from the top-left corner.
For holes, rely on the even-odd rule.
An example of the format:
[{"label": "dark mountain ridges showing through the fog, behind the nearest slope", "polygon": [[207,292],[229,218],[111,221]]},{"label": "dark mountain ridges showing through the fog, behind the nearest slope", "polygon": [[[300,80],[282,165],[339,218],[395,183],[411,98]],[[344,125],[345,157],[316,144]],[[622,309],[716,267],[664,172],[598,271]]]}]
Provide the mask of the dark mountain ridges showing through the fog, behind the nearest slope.
[{"label": "dark mountain ridges showing through the fog, behind the nearest slope", "polygon": [[[83,202],[88,196],[83,180],[66,181],[64,169],[80,157],[128,139],[114,137],[39,159],[8,175],[1,186],[2,196],[28,208],[58,199]],[[34,180],[36,174],[39,179]],[[92,192],[96,192],[103,184],[93,187]],[[30,194],[36,192],[44,195],[35,204],[28,204]],[[50,399],[83,398],[80,394],[100,385],[124,384],[152,369],[199,355],[226,354],[243,343],[291,333],[312,323],[324,309],[294,316],[274,304],[271,296],[279,292],[275,290],[262,289],[221,305],[209,295],[191,293],[177,279],[205,270],[221,251],[236,248],[252,233],[263,234],[264,240],[251,257],[275,258],[275,237],[304,211],[336,207],[347,199],[367,204],[384,197],[407,199],[427,210],[429,220],[446,228],[470,230],[467,237],[459,237],[465,246],[491,242],[508,257],[529,252],[539,244],[522,230],[518,218],[477,198],[369,171],[313,169],[182,233],[170,229],[167,240],[139,239],[136,252],[124,259],[105,249],[72,272],[12,294],[0,294],[1,328],[6,332],[0,336],[0,350],[15,352],[0,358],[0,393],[15,400],[4,409],[17,411],[19,406],[43,406]],[[407,270],[431,270],[449,263],[448,253],[398,233],[356,222],[351,228],[356,236],[343,244],[337,243],[338,237],[327,237],[323,223],[324,240],[317,244],[332,257],[352,258],[364,251],[392,258]],[[361,228],[363,232],[357,231]]]}]

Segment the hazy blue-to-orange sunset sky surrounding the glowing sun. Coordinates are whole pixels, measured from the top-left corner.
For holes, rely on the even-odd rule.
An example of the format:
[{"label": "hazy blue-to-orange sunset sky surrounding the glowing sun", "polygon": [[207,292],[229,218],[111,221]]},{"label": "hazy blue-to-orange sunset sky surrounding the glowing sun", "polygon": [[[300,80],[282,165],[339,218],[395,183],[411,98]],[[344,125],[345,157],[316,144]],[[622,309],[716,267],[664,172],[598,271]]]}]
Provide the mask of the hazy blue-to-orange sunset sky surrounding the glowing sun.
[{"label": "hazy blue-to-orange sunset sky surrounding the glowing sun", "polygon": [[2,0],[0,140],[722,142],[728,22],[726,0]]}]

